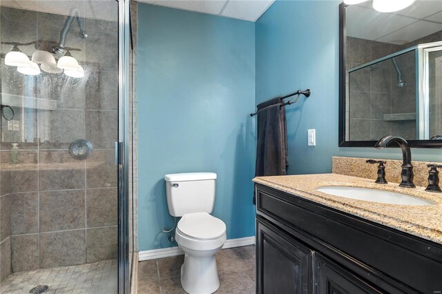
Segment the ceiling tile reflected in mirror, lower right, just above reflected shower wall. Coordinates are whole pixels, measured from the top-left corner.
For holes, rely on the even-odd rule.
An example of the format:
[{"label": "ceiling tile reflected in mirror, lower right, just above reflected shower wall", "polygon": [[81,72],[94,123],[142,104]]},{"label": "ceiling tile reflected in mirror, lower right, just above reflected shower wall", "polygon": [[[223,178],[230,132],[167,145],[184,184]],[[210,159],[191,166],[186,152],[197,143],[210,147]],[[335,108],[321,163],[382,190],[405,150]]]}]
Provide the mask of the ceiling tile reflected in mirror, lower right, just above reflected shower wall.
[{"label": "ceiling tile reflected in mirror, lower right, just above reflected shower wall", "polygon": [[412,23],[410,26],[401,28],[400,30],[392,32],[391,34],[386,35],[385,37],[382,37],[380,39],[377,39],[376,41],[385,42],[385,43],[398,43],[398,41],[410,42],[416,39],[420,39],[421,37],[431,35],[434,32],[439,32],[439,30],[442,30],[441,23],[417,21],[416,23]]}]

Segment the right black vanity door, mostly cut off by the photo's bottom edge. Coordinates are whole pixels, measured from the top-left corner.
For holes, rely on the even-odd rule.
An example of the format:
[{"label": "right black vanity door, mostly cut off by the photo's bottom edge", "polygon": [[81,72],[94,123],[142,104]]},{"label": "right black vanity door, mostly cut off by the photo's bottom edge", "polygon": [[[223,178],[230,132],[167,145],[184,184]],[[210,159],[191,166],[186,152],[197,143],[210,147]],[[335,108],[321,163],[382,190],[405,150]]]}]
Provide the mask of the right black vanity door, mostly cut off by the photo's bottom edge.
[{"label": "right black vanity door, mostly cut off by the photo's bottom edge", "polygon": [[382,293],[342,266],[314,253],[317,294]]}]

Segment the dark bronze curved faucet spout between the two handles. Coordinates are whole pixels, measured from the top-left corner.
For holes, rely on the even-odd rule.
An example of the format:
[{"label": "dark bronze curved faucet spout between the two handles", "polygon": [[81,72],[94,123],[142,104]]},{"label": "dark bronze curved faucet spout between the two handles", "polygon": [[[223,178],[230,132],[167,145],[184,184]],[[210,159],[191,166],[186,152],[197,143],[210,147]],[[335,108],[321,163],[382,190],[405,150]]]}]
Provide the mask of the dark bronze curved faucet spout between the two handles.
[{"label": "dark bronze curved faucet spout between the two handles", "polygon": [[413,184],[413,165],[412,165],[412,151],[410,150],[410,146],[408,146],[407,141],[401,137],[388,135],[380,139],[374,145],[375,149],[385,149],[387,145],[396,142],[402,150],[402,172],[401,179],[402,182],[399,184],[400,187],[404,188],[415,188]]}]

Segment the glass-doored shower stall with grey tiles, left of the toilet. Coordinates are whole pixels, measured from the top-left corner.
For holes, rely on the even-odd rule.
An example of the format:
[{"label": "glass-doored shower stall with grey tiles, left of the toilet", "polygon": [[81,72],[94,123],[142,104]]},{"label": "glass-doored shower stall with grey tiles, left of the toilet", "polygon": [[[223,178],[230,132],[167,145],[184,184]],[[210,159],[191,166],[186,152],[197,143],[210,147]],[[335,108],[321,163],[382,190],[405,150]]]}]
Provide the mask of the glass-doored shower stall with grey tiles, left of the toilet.
[{"label": "glass-doored shower stall with grey tiles, left of the toilet", "polygon": [[129,5],[0,2],[0,293],[129,293]]}]

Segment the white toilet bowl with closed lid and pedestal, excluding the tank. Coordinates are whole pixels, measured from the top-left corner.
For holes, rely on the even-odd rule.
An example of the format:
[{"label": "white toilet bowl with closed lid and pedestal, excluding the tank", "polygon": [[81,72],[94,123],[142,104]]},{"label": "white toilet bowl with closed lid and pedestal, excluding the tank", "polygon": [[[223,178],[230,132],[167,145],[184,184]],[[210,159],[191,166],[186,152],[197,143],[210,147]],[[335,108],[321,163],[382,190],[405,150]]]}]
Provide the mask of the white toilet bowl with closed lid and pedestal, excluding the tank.
[{"label": "white toilet bowl with closed lid and pedestal, excluding the tank", "polygon": [[226,242],[226,225],[209,213],[187,213],[177,224],[175,240],[184,251],[181,285],[191,294],[213,293],[220,287],[215,254]]}]

